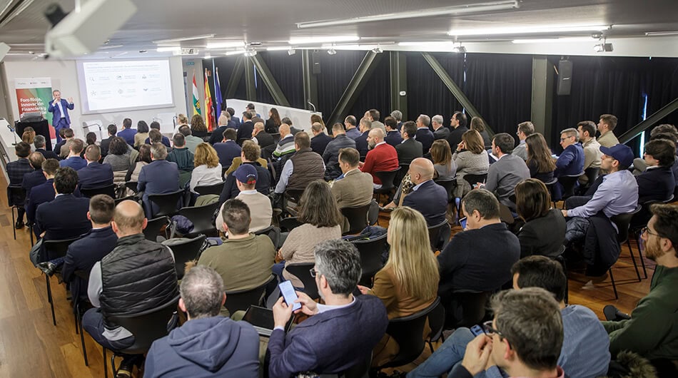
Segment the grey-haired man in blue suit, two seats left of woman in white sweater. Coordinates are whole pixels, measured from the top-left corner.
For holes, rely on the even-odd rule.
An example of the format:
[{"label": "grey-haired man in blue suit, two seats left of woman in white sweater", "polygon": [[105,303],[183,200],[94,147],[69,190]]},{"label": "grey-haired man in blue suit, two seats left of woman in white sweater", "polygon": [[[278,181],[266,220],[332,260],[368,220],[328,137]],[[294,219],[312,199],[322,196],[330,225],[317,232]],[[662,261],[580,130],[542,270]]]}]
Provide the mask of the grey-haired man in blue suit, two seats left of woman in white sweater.
[{"label": "grey-haired man in blue suit, two seats left of woman in white sweater", "polygon": [[143,207],[146,218],[153,218],[153,211],[157,211],[157,205],[151,206],[148,195],[172,193],[179,190],[179,168],[176,163],[165,160],[167,148],[163,143],[151,145],[151,164],[144,165],[139,173],[137,190],[143,193]]}]

